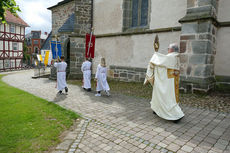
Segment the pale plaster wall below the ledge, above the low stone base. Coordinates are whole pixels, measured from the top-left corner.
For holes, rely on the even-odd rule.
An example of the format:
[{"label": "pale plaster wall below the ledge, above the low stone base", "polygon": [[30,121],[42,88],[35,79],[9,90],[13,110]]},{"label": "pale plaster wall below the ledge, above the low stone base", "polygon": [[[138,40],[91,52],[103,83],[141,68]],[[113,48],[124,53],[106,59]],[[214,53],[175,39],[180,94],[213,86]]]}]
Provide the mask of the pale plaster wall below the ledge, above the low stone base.
[{"label": "pale plaster wall below the ledge, above the low stone base", "polygon": [[[154,53],[153,41],[156,34],[97,38],[93,72],[101,57],[110,65],[146,68]],[[159,33],[159,52],[167,54],[170,43],[179,43],[180,32]]]}]

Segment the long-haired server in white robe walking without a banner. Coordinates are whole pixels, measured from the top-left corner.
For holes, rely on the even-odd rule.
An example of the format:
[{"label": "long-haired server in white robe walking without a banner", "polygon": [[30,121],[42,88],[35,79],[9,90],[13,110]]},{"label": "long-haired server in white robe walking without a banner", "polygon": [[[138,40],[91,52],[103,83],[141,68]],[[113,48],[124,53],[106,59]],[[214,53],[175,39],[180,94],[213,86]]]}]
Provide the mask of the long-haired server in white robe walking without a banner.
[{"label": "long-haired server in white robe walking without a banner", "polygon": [[109,84],[107,82],[107,68],[105,63],[105,58],[101,58],[101,63],[97,66],[97,72],[95,75],[97,80],[97,94],[95,96],[101,96],[101,91],[105,91],[106,95],[109,96]]}]

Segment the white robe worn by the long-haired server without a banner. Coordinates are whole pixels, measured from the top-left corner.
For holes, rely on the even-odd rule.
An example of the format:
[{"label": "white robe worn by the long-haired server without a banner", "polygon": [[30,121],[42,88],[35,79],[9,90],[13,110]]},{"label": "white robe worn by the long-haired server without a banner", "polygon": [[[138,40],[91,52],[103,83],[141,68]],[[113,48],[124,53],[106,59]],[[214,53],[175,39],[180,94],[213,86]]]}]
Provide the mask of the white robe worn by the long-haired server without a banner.
[{"label": "white robe worn by the long-haired server without a banner", "polygon": [[108,91],[110,90],[109,84],[107,82],[107,68],[102,67],[100,64],[97,66],[97,72],[95,75],[97,79],[97,91]]}]

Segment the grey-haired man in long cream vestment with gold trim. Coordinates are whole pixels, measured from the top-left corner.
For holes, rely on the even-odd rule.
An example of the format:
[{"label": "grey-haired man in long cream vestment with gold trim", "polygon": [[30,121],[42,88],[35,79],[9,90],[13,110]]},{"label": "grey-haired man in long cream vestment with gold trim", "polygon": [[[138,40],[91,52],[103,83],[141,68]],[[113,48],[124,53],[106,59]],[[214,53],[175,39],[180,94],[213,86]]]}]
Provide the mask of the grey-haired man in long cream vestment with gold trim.
[{"label": "grey-haired man in long cream vestment with gold trim", "polygon": [[168,54],[155,52],[147,68],[144,84],[153,86],[151,109],[159,117],[175,123],[183,118],[179,106],[179,48],[170,44]]}]

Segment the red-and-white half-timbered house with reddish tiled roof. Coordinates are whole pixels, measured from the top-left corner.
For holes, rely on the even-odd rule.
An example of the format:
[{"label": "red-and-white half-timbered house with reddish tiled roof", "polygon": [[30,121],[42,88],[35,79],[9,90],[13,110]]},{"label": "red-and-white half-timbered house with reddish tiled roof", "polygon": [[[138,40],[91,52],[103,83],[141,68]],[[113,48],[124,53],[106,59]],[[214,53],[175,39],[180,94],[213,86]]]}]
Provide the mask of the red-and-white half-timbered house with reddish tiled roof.
[{"label": "red-and-white half-timbered house with reddish tiled roof", "polygon": [[0,24],[0,71],[20,69],[25,28],[28,24],[6,11],[7,24]]}]

